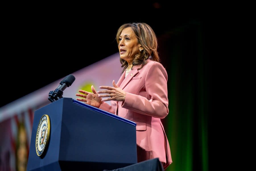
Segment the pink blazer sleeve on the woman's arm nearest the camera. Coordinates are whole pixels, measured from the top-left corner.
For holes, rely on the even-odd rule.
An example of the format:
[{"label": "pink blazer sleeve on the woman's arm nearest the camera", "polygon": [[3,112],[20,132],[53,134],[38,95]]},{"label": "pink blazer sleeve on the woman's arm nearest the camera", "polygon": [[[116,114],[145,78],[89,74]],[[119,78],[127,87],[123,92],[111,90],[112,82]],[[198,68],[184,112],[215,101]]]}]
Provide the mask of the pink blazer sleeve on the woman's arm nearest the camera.
[{"label": "pink blazer sleeve on the woman's arm nearest the camera", "polygon": [[167,72],[162,64],[154,62],[145,76],[148,97],[127,92],[122,107],[143,115],[165,118],[169,113],[167,79]]}]

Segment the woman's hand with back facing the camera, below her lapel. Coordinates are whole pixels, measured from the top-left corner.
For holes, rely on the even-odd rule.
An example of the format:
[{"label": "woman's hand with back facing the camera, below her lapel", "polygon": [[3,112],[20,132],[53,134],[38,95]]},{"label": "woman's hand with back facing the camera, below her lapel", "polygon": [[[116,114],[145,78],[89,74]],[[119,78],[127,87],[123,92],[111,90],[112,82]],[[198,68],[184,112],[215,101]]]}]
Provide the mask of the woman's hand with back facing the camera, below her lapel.
[{"label": "woman's hand with back facing the camera, below her lapel", "polygon": [[106,99],[102,99],[102,101],[125,101],[126,92],[123,89],[119,88],[115,84],[115,80],[113,80],[113,87],[109,86],[100,86],[101,89],[106,89],[102,91],[97,91],[98,94],[105,93],[105,95],[98,95],[98,97],[108,97]]}]

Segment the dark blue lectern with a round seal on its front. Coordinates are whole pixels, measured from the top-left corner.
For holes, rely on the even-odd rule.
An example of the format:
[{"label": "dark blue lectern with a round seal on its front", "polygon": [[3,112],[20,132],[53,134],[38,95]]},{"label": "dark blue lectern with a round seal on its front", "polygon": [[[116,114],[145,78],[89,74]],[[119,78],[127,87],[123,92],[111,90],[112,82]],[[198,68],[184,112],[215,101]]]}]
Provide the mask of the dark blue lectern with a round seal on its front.
[{"label": "dark blue lectern with a round seal on its front", "polygon": [[[47,123],[48,138],[42,133]],[[136,123],[66,97],[35,111],[28,171],[102,171],[135,163]]]}]

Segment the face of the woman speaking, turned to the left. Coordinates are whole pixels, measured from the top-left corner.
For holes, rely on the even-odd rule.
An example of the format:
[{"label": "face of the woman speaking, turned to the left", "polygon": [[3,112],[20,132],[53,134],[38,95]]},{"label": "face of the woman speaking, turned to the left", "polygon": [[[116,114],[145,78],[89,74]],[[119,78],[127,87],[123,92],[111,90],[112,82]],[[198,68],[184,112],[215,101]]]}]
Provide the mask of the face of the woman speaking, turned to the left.
[{"label": "face of the woman speaking, turned to the left", "polygon": [[119,54],[120,58],[126,60],[128,63],[132,62],[135,55],[139,53],[138,38],[134,34],[131,27],[123,29],[119,36]]}]

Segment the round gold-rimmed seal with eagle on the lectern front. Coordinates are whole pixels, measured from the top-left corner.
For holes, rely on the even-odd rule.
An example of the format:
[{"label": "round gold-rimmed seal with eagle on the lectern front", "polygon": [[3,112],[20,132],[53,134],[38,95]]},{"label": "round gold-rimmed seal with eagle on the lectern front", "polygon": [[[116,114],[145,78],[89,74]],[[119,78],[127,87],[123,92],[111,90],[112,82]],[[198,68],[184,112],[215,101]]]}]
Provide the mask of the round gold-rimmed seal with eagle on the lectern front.
[{"label": "round gold-rimmed seal with eagle on the lectern front", "polygon": [[36,131],[36,153],[41,156],[44,149],[47,147],[50,136],[50,118],[48,115],[43,115],[39,121]]}]

